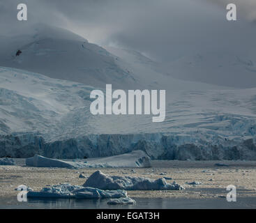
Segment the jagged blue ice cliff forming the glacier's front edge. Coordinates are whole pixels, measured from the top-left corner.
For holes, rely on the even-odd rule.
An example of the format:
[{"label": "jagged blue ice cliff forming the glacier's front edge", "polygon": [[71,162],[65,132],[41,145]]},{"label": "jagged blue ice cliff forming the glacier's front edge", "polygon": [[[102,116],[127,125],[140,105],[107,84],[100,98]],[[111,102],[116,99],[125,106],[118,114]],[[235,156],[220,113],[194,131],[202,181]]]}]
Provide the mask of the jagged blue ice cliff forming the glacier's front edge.
[{"label": "jagged blue ice cliff forming the glacier's front edge", "polygon": [[46,142],[35,134],[0,136],[0,157],[58,159],[106,157],[142,150],[151,159],[163,160],[256,160],[253,139],[170,134],[100,134]]}]

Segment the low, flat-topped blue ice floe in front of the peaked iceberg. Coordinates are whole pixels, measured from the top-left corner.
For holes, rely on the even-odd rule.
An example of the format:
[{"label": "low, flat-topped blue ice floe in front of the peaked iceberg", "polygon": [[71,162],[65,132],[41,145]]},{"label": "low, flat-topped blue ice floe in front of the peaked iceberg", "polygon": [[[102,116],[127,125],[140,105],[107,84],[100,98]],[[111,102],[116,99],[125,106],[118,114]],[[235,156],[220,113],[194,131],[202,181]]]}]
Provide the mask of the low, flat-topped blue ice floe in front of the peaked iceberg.
[{"label": "low, flat-topped blue ice floe in front of the peaked iceberg", "polygon": [[127,197],[124,190],[100,190],[93,187],[61,184],[44,187],[40,192],[29,191],[27,197],[100,199]]}]

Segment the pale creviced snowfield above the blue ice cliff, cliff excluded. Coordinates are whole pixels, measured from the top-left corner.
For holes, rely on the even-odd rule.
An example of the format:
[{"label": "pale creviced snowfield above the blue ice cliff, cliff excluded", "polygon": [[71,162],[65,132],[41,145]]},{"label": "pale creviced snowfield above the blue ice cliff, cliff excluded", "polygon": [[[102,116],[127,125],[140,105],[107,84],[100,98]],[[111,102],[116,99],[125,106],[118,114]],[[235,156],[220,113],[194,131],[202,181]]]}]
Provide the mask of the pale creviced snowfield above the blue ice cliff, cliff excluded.
[{"label": "pale creviced snowfield above the blue ice cliff, cliff excluded", "polygon": [[84,134],[218,131],[225,136],[251,135],[255,123],[256,89],[176,90],[167,96],[166,118],[151,115],[93,116],[93,87],[43,75],[0,68],[1,134],[40,132],[45,139]]}]

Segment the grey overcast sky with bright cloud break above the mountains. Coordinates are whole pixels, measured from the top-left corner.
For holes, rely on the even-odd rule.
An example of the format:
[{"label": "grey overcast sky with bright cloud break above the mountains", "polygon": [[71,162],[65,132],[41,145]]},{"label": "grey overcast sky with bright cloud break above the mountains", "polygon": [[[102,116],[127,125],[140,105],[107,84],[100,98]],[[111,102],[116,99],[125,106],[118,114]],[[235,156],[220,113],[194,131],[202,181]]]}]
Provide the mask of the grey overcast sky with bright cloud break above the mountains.
[{"label": "grey overcast sky with bright cloud break above the mountains", "polygon": [[1,34],[17,29],[17,3],[27,3],[27,24],[43,22],[92,43],[138,51],[168,62],[191,52],[250,51],[255,43],[255,0],[233,0],[237,22],[227,22],[226,0],[1,0]]}]

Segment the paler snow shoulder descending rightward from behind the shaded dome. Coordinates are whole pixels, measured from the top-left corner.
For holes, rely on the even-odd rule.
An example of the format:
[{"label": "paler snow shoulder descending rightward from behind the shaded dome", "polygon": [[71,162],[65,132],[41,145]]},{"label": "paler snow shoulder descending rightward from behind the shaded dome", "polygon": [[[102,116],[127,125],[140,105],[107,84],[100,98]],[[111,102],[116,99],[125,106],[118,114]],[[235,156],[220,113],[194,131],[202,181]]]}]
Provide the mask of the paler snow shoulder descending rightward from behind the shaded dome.
[{"label": "paler snow shoulder descending rightward from behind the shaded dome", "polygon": [[173,78],[169,72],[165,72],[161,63],[152,61],[134,50],[106,46],[104,48],[118,58],[116,62],[120,67],[133,72],[137,82],[146,86],[146,89],[165,89],[170,92],[175,90],[227,89],[227,87],[223,88],[218,85],[195,82],[193,79],[183,81]]}]

